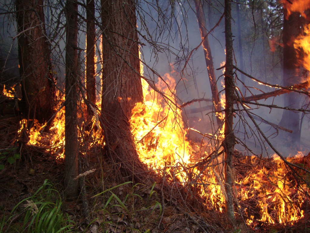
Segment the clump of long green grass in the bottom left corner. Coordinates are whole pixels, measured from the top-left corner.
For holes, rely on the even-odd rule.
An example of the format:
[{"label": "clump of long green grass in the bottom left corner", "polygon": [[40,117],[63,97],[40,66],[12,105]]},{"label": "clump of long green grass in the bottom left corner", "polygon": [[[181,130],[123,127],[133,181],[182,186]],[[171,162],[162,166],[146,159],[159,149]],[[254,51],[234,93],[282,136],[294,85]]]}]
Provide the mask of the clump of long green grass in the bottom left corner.
[{"label": "clump of long green grass in the bottom left corner", "polygon": [[0,232],[65,233],[73,227],[74,222],[62,212],[59,192],[45,180],[33,196],[13,208],[7,220],[3,217]]}]

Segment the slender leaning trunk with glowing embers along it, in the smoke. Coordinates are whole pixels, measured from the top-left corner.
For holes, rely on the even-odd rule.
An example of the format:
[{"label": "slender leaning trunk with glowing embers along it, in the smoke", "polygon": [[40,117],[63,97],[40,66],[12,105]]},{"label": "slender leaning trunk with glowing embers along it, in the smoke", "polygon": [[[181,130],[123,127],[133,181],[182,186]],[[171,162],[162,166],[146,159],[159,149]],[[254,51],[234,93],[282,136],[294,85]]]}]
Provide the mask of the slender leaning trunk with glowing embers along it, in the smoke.
[{"label": "slender leaning trunk with glowing embers along it, in the smoke", "polygon": [[[219,105],[219,91],[217,89],[214,66],[213,66],[213,59],[212,59],[212,54],[211,54],[211,48],[210,48],[209,40],[207,37],[205,16],[203,14],[201,0],[194,0],[194,2],[195,2],[195,6],[196,6],[197,20],[198,20],[198,24],[199,24],[199,28],[200,28],[201,39],[204,39],[204,41],[202,43],[202,47],[203,47],[203,51],[205,54],[206,66],[207,66],[207,70],[208,70],[208,76],[209,76],[211,92],[212,92],[212,100],[213,100],[213,104],[215,106],[215,111],[219,112],[219,111],[221,111],[221,107]],[[218,125],[220,125],[222,122],[218,116],[216,116],[216,121],[217,121]]]}]

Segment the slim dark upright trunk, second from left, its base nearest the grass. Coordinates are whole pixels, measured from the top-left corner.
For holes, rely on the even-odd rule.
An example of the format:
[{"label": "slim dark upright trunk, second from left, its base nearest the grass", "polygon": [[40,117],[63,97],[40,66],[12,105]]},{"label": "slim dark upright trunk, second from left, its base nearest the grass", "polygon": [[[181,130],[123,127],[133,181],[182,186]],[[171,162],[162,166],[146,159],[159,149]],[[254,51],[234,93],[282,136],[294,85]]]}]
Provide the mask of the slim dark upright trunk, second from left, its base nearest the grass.
[{"label": "slim dark upright trunk, second from left, its base nearest the grass", "polygon": [[78,5],[66,1],[66,104],[65,104],[65,194],[72,199],[78,196],[78,139],[77,139],[77,79],[78,79]]}]

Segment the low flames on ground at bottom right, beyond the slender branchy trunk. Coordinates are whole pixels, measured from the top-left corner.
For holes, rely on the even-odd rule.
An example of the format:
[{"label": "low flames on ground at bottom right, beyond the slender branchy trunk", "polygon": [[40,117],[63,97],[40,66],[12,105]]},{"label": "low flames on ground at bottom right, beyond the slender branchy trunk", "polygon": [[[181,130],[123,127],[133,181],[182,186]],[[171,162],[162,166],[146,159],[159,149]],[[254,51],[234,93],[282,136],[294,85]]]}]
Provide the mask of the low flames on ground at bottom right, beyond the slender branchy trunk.
[{"label": "low flames on ground at bottom right, beyond the slender branchy trunk", "polygon": [[[293,188],[295,192],[293,195],[290,187],[291,180],[286,177],[288,170],[284,162],[277,155],[273,155],[272,158],[274,165],[272,169],[267,170],[266,167],[261,167],[257,172],[253,169],[245,178],[237,181],[240,187],[244,187],[244,185],[251,187],[248,191],[241,189],[241,200],[251,199],[255,196],[255,192],[258,192],[257,207],[260,211],[260,218],[257,220],[268,223],[296,221],[303,217],[301,206],[304,194]],[[294,158],[298,158],[298,156]],[[255,157],[252,157],[253,160],[255,161]],[[303,185],[302,188],[305,189],[306,186]],[[293,200],[293,196],[297,196],[297,199]],[[272,215],[271,212],[273,212]],[[247,209],[245,213],[248,216]],[[254,216],[249,217],[254,218]],[[252,223],[251,219],[248,219],[248,224]]]}]

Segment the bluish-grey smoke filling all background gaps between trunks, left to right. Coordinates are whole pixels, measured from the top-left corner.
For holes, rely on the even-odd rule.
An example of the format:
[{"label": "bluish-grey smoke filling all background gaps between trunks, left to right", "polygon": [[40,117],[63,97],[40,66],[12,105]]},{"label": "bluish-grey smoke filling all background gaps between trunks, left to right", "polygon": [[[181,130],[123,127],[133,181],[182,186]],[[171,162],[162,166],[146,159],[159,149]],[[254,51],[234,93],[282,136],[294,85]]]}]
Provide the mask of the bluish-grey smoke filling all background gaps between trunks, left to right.
[{"label": "bluish-grey smoke filling all background gaps between trunks, left to right", "polygon": [[[206,16],[207,30],[213,28],[222,16],[224,7],[223,2],[215,2],[213,5],[208,5],[204,3],[203,9]],[[164,9],[165,2],[161,3]],[[148,4],[142,2],[139,6],[138,11],[147,11]],[[166,6],[168,10],[171,10],[169,6]],[[266,8],[270,9],[270,7]],[[47,11],[52,11],[47,9]],[[172,12],[172,11],[171,11]],[[80,12],[85,14],[85,12]],[[148,41],[140,36],[140,40],[144,43],[141,46],[141,51],[143,53],[143,61],[152,70],[157,71],[158,74],[163,76],[165,73],[170,73],[177,83],[175,93],[179,98],[179,103],[185,103],[192,99],[197,98],[208,98],[211,99],[211,89],[208,79],[206,62],[204,57],[204,52],[202,46],[199,46],[197,51],[191,54],[188,59],[188,63],[185,66],[185,60],[188,58],[190,52],[196,48],[201,43],[200,30],[197,23],[197,16],[195,12],[195,5],[193,2],[181,1],[179,5],[174,8],[174,16],[171,17],[170,23],[162,31],[158,30],[158,21],[156,21],[158,15],[155,9],[151,12],[153,17],[144,15],[144,21],[147,22],[148,31],[152,35],[152,39],[157,41],[157,45],[163,48],[162,51],[156,50],[154,46],[150,46]],[[99,17],[99,13],[96,13]],[[167,13],[169,18],[169,13]],[[46,14],[46,22],[49,24],[51,13]],[[283,71],[282,71],[282,47],[280,46],[279,38],[281,34],[281,29],[275,28],[271,19],[268,21],[269,13],[267,10],[263,11],[256,9],[254,15],[252,15],[252,10],[247,5],[240,5],[239,16],[237,11],[237,4],[232,4],[232,17],[234,19],[232,23],[233,32],[233,45],[234,45],[234,58],[235,65],[242,68],[247,74],[261,80],[263,82],[268,82],[270,84],[283,85]],[[240,19],[240,21],[239,21]],[[255,19],[255,22],[253,21]],[[282,18],[280,17],[280,20]],[[1,67],[7,61],[1,75],[1,83],[8,83],[13,85],[18,83],[16,77],[19,76],[18,67],[18,51],[17,51],[17,40],[13,40],[11,37],[16,35],[16,26],[13,16],[7,17],[7,15],[1,15],[0,21],[2,25],[1,29]],[[271,23],[272,21],[272,23]],[[238,26],[238,23],[240,25]],[[147,35],[146,30],[141,25],[141,18],[138,16],[138,30],[141,31],[142,35]],[[238,28],[240,27],[240,28]],[[48,30],[47,33],[52,33]],[[85,33],[80,32],[79,34],[79,48],[85,48]],[[148,38],[148,36],[146,36]],[[225,61],[225,34],[224,34],[224,19],[222,19],[219,25],[212,31],[209,36],[209,43],[212,52],[212,58],[214,62],[214,67],[219,68],[223,66]],[[239,42],[239,39],[241,43]],[[55,63],[54,70],[57,73],[56,77],[59,83],[63,83],[64,80],[64,38],[60,37],[56,41],[58,47],[53,48],[53,61]],[[55,44],[56,44],[55,43]],[[99,50],[99,43],[97,50]],[[241,48],[242,46],[242,48]],[[11,50],[10,50],[11,48]],[[170,50],[170,51],[168,51]],[[10,51],[10,53],[9,53]],[[62,51],[62,52],[60,52]],[[241,59],[241,52],[243,59]],[[81,62],[84,59],[84,55],[80,55]],[[97,56],[99,54],[97,53]],[[144,75],[151,80],[157,81],[158,77],[153,74],[151,69],[144,66]],[[97,72],[100,71],[100,66],[97,66]],[[83,71],[81,71],[82,73]],[[217,85],[219,89],[219,97],[224,94],[224,88],[221,84],[223,77],[223,69],[215,70],[215,75],[217,78]],[[250,96],[252,94],[261,94],[262,92],[270,92],[275,90],[274,88],[260,85],[257,82],[250,80],[247,77],[242,77],[241,73],[236,73],[238,79],[243,80],[248,89],[244,93],[244,87],[237,81],[236,84],[243,94]],[[99,74],[97,76],[97,83],[100,83]],[[307,104],[308,98],[299,95],[300,106]],[[266,105],[284,105],[284,95],[277,96],[274,98],[268,98],[266,100],[260,100],[259,103]],[[210,113],[212,109],[205,110],[203,112],[191,113],[194,109],[199,109],[201,107],[210,106],[210,102],[195,102],[184,108],[183,118],[187,121],[188,127],[192,127],[199,130],[201,133],[212,133],[212,124],[210,120],[215,120],[215,114]],[[268,107],[257,107],[251,106],[254,109],[251,110],[254,114],[262,117],[266,121],[269,121],[275,125],[278,125],[281,121],[282,109],[268,108]],[[223,109],[223,108],[222,108]],[[301,140],[300,144],[291,144],[288,138],[288,132],[283,130],[276,130],[274,127],[266,124],[259,118],[256,118],[259,127],[266,134],[268,139],[275,145],[275,147],[283,153],[284,156],[294,155],[297,150],[306,151],[308,153],[308,138],[309,138],[309,118],[303,113],[298,114],[299,118],[302,120],[301,129]],[[244,120],[242,120],[244,116]],[[264,156],[268,154],[273,154],[272,149],[266,145],[264,146],[264,140],[259,137],[255,137],[257,134],[254,124],[250,121],[250,118],[244,113],[240,118],[239,114],[236,114],[234,118],[234,126],[236,136],[245,143],[253,152],[257,154],[263,154]],[[189,131],[189,138],[191,140],[201,141],[202,136],[198,133]],[[245,151],[241,144],[237,144],[236,148]],[[246,152],[247,153],[247,152]]]}]

